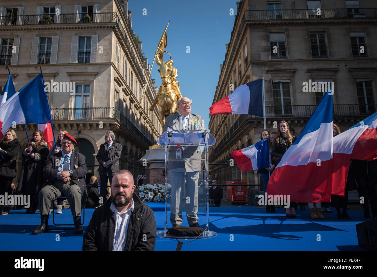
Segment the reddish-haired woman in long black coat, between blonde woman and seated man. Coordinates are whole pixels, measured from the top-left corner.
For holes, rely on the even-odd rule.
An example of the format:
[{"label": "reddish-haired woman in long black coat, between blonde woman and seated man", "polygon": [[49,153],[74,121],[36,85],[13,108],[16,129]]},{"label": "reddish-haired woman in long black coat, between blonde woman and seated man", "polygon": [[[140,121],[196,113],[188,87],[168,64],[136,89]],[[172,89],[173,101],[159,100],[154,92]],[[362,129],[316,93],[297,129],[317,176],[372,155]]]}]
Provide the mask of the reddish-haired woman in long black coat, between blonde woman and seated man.
[{"label": "reddish-haired woman in long black coat, between blonde woman and seated man", "polygon": [[26,213],[35,213],[38,208],[38,193],[44,183],[43,167],[50,150],[47,142],[44,141],[44,134],[40,130],[33,133],[30,145],[26,143],[22,153],[22,169],[17,193],[30,195],[31,205]]}]

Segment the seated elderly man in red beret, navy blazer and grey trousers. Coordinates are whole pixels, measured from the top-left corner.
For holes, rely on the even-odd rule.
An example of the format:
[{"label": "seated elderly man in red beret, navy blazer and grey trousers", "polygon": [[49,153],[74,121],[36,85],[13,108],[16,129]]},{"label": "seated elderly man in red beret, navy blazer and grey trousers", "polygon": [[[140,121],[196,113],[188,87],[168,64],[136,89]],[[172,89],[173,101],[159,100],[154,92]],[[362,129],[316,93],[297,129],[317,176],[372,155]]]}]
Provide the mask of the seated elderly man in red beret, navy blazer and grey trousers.
[{"label": "seated elderly man in red beret, navy blazer and grey trousers", "polygon": [[41,225],[32,233],[41,234],[48,231],[48,216],[51,202],[64,195],[67,197],[75,224],[75,234],[83,233],[81,225],[81,199],[86,201],[87,192],[85,175],[87,168],[83,154],[74,152],[76,140],[64,134],[61,151],[48,156],[43,176],[47,179],[39,193],[39,211]]}]

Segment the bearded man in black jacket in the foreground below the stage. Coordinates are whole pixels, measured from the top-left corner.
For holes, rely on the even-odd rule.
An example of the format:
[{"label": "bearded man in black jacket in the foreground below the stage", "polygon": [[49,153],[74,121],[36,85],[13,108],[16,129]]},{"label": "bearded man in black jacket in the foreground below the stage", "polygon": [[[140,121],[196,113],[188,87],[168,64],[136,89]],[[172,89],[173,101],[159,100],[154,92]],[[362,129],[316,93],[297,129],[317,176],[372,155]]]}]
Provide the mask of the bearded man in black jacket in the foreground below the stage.
[{"label": "bearded man in black jacket in the foreground below the stage", "polygon": [[111,198],[93,212],[83,237],[83,251],[153,251],[155,215],[134,190],[131,172],[114,174]]}]

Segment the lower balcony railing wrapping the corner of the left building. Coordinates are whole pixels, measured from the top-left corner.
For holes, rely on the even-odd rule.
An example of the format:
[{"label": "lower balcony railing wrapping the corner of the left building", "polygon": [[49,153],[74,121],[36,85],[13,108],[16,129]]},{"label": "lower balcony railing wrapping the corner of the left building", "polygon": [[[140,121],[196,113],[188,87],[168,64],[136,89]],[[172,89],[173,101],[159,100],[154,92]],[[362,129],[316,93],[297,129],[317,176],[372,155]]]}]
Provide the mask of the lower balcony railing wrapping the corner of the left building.
[{"label": "lower balcony railing wrapping the corner of the left building", "polygon": [[117,108],[55,108],[51,109],[52,120],[106,120],[115,119],[126,126],[135,136],[141,139],[148,146],[156,142],[151,142],[147,135],[143,134],[123,113]]}]

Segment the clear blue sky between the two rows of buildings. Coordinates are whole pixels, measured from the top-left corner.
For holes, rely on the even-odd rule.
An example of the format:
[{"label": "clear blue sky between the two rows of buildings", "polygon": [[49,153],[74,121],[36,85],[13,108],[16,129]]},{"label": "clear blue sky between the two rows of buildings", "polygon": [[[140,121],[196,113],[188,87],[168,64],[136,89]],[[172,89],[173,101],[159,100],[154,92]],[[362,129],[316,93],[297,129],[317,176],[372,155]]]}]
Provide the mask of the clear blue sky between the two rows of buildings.
[{"label": "clear blue sky between the two rows of buildings", "polygon": [[[225,43],[229,43],[233,29],[236,1],[136,1],[129,0],[132,29],[143,42],[143,52],[152,65],[159,39],[167,29],[166,51],[172,55],[173,67],[178,69],[179,85],[183,96],[193,100],[192,113],[200,114],[208,129],[209,107],[220,75],[220,64],[225,59]],[[147,15],[143,15],[147,9]],[[233,9],[234,15],[230,15]],[[190,53],[186,47],[190,46]],[[164,53],[164,61],[169,55]],[[161,85],[155,62],[152,78]]]}]

